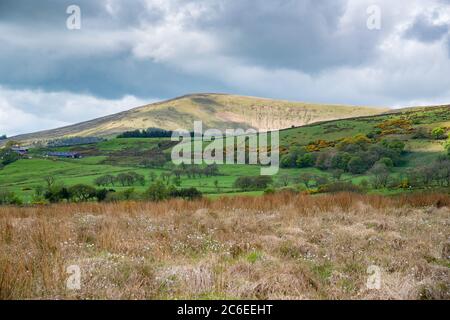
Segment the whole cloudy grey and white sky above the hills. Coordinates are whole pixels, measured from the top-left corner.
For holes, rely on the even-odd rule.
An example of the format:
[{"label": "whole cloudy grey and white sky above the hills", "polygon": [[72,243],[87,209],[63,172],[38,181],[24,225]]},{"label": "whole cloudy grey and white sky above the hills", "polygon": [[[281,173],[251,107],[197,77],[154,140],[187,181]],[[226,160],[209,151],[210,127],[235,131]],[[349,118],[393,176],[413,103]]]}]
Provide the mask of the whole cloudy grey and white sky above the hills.
[{"label": "whole cloudy grey and white sky above the hills", "polygon": [[449,104],[450,0],[0,0],[0,135],[200,92]]}]

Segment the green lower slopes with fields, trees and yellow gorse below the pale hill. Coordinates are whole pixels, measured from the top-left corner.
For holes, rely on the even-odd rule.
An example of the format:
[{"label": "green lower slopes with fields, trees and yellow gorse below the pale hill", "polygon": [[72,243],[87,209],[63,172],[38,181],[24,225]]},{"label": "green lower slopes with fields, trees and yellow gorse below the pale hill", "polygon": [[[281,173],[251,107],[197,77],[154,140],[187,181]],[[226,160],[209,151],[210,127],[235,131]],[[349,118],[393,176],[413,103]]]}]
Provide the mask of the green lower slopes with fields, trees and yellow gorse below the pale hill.
[{"label": "green lower slopes with fields, trees and yellow gorse below the pale hill", "polygon": [[[435,128],[442,128],[442,137],[432,134]],[[450,159],[442,157],[447,154],[445,137],[449,133],[450,106],[288,128],[280,132],[281,168],[272,185],[277,190],[288,187],[316,192],[320,186],[337,181],[365,185],[365,191],[380,194],[448,189],[450,180],[445,180],[445,170]],[[144,176],[144,183],[105,186],[115,189],[118,195],[131,187],[135,192],[144,192],[162,179],[182,188],[195,187],[210,197],[263,193],[262,188],[252,190],[235,185],[240,177],[258,176],[258,165],[219,165],[216,175],[200,172],[194,166],[180,174],[170,160],[173,145],[169,138],[110,138],[84,145],[31,148],[27,156],[0,168],[0,200],[1,191],[7,190],[26,203],[33,202],[36,188],[45,185],[46,177],[67,187],[94,186],[105,175],[118,177],[130,172]],[[82,158],[47,157],[50,152],[78,153]],[[389,166],[388,171],[381,172],[387,180],[381,186],[372,185],[371,168],[375,164],[379,167],[380,160]],[[299,179],[308,176],[310,181]]]}]

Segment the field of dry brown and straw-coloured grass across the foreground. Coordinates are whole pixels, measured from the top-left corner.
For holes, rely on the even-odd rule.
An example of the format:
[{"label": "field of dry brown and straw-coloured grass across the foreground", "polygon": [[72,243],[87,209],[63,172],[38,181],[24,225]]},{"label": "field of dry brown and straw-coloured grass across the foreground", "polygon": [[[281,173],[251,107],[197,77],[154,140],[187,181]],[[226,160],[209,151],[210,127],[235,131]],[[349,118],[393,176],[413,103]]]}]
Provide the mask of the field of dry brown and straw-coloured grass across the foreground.
[{"label": "field of dry brown and straw-coloured grass across the foreground", "polygon": [[449,299],[449,206],[286,193],[0,207],[0,299]]}]

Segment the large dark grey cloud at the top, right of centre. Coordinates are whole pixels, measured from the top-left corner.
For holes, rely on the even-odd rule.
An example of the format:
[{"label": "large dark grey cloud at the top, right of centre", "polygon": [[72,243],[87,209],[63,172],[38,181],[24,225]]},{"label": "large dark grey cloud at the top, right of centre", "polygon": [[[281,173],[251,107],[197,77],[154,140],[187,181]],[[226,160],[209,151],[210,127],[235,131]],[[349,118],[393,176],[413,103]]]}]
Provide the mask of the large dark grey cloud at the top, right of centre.
[{"label": "large dark grey cloud at the top, right of centre", "polygon": [[366,28],[365,7],[342,30],[347,1],[221,1],[214,19],[200,21],[227,43],[226,51],[269,68],[316,73],[373,58],[383,32]]}]

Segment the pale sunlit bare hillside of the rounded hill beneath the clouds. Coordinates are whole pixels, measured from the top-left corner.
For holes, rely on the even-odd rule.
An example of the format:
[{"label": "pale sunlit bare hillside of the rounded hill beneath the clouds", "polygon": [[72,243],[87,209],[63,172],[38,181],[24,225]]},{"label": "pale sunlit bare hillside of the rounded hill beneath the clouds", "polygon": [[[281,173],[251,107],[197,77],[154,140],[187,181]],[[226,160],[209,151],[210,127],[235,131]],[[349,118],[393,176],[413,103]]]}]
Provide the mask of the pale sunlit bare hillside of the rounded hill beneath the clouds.
[{"label": "pale sunlit bare hillside of the rounded hill beneath the clouds", "polygon": [[150,127],[191,129],[201,120],[209,128],[284,129],[318,121],[375,115],[381,108],[311,104],[225,94],[193,94],[53,130],[23,134],[29,142],[65,136],[112,136]]}]

